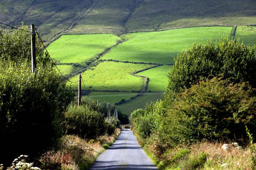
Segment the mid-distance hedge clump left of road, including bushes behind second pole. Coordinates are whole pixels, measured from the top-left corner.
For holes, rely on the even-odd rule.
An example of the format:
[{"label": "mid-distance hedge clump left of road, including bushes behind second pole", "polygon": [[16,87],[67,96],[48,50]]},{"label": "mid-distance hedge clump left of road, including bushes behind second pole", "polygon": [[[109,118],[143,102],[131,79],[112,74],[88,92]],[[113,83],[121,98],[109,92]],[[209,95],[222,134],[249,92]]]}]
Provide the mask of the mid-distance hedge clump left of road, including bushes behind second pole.
[{"label": "mid-distance hedge clump left of road, including bushes behind second pole", "polygon": [[[97,102],[87,96],[81,98],[81,105],[73,101],[65,112],[67,134],[74,134],[85,139],[94,139],[97,136],[111,135],[116,127],[120,127],[120,120],[113,118],[114,105],[110,105],[111,119],[107,120],[107,104]],[[119,113],[120,118],[122,114]]]}]

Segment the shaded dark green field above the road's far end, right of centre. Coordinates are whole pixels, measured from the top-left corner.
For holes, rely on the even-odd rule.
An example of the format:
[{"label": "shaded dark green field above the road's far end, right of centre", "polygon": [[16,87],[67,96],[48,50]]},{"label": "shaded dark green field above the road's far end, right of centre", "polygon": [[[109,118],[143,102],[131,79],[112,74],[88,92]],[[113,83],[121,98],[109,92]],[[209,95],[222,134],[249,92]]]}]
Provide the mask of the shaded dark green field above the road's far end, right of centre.
[{"label": "shaded dark green field above the road's far end, right of centre", "polygon": [[[147,95],[148,94],[148,95]],[[136,97],[134,100],[128,103],[118,105],[118,108],[122,109],[123,113],[131,114],[136,109],[145,108],[146,103],[156,102],[162,99],[162,94],[147,93],[145,95]]]}]

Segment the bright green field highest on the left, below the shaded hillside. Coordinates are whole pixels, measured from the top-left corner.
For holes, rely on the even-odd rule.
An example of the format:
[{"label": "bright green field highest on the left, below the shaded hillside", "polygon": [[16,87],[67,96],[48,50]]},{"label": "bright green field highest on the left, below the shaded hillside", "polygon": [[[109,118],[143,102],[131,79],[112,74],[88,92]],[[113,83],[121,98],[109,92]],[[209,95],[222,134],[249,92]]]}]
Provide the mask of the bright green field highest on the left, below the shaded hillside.
[{"label": "bright green field highest on the left, below the shaded hillside", "polygon": [[117,40],[120,37],[111,34],[64,35],[47,50],[57,62],[82,63],[115,45]]}]

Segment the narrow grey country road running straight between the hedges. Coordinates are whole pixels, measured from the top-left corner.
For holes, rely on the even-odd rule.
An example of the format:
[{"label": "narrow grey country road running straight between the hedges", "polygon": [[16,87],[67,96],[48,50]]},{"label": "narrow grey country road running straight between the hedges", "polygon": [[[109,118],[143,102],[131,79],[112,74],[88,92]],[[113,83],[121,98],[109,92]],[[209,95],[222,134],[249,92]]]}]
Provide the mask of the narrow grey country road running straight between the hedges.
[{"label": "narrow grey country road running straight between the hedges", "polygon": [[105,150],[89,170],[157,170],[137,143],[130,129],[123,129],[116,141]]}]

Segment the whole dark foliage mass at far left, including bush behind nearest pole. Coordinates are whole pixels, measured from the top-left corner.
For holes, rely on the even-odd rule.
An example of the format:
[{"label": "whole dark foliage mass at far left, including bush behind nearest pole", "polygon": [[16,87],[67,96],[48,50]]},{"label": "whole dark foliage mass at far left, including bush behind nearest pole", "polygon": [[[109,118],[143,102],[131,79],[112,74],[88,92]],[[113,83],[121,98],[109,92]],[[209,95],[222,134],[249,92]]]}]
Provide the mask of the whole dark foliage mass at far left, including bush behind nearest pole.
[{"label": "whole dark foliage mass at far left, including bush behind nearest pole", "polygon": [[74,94],[38,41],[32,73],[28,33],[0,30],[0,39],[0,160],[8,163],[13,156],[33,158],[58,144],[65,132],[63,113]]}]

